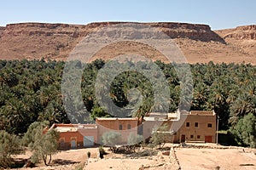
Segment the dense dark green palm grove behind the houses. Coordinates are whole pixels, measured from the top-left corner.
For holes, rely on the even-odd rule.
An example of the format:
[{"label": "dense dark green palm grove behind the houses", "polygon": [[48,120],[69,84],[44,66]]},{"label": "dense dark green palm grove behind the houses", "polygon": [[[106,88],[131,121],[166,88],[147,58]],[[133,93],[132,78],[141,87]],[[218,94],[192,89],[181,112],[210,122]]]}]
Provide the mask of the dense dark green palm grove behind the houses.
[{"label": "dense dark green palm grove behind the houses", "polygon": [[[86,110],[91,112],[90,117],[85,118],[86,122],[92,122],[96,116],[111,116],[96,100],[96,77],[104,64],[104,61],[96,60],[86,65],[83,72],[81,82],[83,103]],[[173,65],[160,61],[156,61],[155,64],[166,76],[170,87],[169,111],[176,111],[180,102],[181,82],[177,78]],[[125,67],[124,64],[119,65],[121,68]],[[27,127],[36,121],[70,122],[61,94],[64,66],[64,61],[45,61],[44,59],[1,60],[0,130],[19,134],[26,133]],[[148,65],[142,66],[147,69]],[[249,138],[255,141],[256,66],[209,62],[190,65],[190,69],[194,86],[191,110],[214,110],[219,116],[219,129],[232,128],[231,132],[236,136],[244,122],[252,124],[253,127],[248,133],[253,133],[254,137],[249,135]],[[154,76],[157,77],[157,75]],[[133,99],[133,96],[137,95],[129,93],[131,88],[137,89],[143,99],[136,97]],[[154,105],[154,91],[149,80],[136,71],[120,73],[111,84],[110,96],[113,103],[119,107],[129,108],[133,105],[132,101],[137,103],[142,100],[141,105],[138,106],[139,109],[131,111],[130,116],[143,116],[146,112],[152,111],[152,105]],[[250,115],[250,119],[240,121],[247,115]],[[242,138],[244,136],[247,135],[243,135]],[[248,143],[250,142],[241,142],[241,144]]]}]

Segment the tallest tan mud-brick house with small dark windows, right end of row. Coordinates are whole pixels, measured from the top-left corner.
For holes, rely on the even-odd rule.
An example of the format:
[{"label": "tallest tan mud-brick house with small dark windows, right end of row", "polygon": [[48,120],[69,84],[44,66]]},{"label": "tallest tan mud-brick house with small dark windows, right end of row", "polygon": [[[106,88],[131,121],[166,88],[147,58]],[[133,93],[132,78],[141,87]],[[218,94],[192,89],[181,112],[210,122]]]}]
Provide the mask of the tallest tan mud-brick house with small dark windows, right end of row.
[{"label": "tallest tan mud-brick house with small dark windows, right end of row", "polygon": [[148,138],[155,131],[154,125],[166,124],[168,142],[216,142],[216,114],[214,111],[176,113],[151,113],[143,119],[143,136]]}]

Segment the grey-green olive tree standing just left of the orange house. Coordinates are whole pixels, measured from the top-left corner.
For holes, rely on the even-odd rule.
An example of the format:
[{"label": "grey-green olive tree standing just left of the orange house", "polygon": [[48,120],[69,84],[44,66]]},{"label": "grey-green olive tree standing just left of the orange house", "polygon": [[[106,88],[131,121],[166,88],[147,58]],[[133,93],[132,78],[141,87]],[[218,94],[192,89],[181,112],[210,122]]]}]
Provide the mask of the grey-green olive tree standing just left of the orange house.
[{"label": "grey-green olive tree standing just left of the orange house", "polygon": [[51,156],[58,152],[59,139],[59,133],[54,129],[44,132],[48,125],[49,122],[33,122],[24,136],[25,144],[33,151],[31,161],[37,163],[41,158],[46,166],[49,165]]}]

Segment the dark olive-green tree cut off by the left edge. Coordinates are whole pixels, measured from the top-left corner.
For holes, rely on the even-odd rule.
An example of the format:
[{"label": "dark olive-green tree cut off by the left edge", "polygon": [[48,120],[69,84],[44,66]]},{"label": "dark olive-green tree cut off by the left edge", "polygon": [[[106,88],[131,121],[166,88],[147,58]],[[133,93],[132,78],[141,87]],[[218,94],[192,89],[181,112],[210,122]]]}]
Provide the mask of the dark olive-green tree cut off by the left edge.
[{"label": "dark olive-green tree cut off by the left edge", "polygon": [[0,167],[9,167],[12,161],[11,156],[24,152],[20,145],[20,139],[5,131],[0,131]]}]

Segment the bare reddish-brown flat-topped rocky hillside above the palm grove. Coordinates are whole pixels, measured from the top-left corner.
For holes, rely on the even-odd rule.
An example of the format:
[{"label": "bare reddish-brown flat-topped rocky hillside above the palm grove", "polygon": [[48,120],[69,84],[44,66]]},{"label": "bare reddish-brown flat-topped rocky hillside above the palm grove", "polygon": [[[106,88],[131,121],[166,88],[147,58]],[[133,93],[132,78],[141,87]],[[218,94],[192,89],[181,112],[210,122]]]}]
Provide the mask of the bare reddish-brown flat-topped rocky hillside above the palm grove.
[{"label": "bare reddish-brown flat-topped rocky hillside above the palm grove", "polygon": [[[0,59],[56,59],[65,60],[73,48],[90,32],[103,26],[123,22],[99,22],[88,25],[47,23],[20,23],[0,27]],[[234,29],[212,31],[210,26],[157,22],[143,23],[165,32],[183,51],[189,63],[213,61],[252,63],[256,65],[256,25],[238,26]],[[149,56],[165,57],[146,44],[118,42],[102,48],[94,59],[112,59],[125,51]],[[167,62],[167,61],[166,61]]]}]

